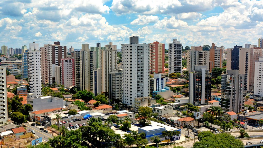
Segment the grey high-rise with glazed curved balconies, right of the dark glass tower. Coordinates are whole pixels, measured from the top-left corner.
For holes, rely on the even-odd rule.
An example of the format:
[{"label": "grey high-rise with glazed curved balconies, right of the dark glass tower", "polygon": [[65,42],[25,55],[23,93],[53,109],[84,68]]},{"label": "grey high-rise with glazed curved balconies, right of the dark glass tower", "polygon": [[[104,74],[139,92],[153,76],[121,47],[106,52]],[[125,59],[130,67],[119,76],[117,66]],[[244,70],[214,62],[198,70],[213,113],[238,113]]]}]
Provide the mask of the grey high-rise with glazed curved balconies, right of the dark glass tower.
[{"label": "grey high-rise with glazed curved balconies, right of the dark glass tower", "polygon": [[238,70],[227,70],[221,75],[220,106],[224,111],[242,112],[244,109],[244,74]]}]

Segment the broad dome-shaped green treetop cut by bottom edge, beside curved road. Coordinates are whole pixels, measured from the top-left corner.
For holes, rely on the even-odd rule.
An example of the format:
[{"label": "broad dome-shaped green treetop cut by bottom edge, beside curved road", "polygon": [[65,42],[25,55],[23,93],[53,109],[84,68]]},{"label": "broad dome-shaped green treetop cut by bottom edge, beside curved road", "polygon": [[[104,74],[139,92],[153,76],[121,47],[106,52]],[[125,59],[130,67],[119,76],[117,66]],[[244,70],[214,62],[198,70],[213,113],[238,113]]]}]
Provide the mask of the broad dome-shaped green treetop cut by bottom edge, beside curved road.
[{"label": "broad dome-shaped green treetop cut by bottom edge, beside curved road", "polygon": [[226,133],[213,134],[207,137],[203,137],[201,141],[195,142],[193,148],[214,148],[214,147],[231,147],[241,148],[244,147],[242,141],[235,139],[234,136]]}]

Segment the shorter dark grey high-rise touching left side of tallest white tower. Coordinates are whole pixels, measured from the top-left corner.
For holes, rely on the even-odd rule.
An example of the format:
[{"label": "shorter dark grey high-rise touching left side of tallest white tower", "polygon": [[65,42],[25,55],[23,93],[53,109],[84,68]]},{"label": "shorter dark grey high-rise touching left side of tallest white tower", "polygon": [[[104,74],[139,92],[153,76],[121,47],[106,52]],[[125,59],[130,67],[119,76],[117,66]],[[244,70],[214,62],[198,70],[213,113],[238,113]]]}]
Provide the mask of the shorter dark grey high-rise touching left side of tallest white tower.
[{"label": "shorter dark grey high-rise touching left side of tallest white tower", "polygon": [[122,70],[114,69],[109,72],[109,100],[122,100]]}]

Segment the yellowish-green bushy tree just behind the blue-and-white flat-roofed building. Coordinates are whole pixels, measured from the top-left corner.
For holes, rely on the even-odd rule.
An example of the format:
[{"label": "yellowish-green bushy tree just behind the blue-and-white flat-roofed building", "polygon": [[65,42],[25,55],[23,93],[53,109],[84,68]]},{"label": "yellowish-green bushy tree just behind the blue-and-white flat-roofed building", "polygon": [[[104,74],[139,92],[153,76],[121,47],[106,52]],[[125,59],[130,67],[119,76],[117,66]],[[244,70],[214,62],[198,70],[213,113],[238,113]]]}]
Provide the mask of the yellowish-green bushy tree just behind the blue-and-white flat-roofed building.
[{"label": "yellowish-green bushy tree just behind the blue-and-white flat-roofed building", "polygon": [[151,124],[151,121],[149,119],[151,118],[152,112],[152,108],[141,106],[138,109],[138,114],[135,117],[136,119],[139,119],[140,124],[142,124],[143,126],[148,126],[149,124]]}]

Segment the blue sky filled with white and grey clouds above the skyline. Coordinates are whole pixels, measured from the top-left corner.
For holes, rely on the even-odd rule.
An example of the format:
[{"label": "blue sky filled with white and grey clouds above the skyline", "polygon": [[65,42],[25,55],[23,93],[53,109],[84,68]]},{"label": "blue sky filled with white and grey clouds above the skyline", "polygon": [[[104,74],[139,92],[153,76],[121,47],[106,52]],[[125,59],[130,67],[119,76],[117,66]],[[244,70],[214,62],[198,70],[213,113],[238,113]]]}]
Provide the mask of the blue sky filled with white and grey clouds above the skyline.
[{"label": "blue sky filled with white and grey clouds above the skyline", "polygon": [[0,45],[33,41],[80,49],[113,42],[117,48],[177,39],[185,46],[234,48],[263,36],[263,0],[1,0]]}]

